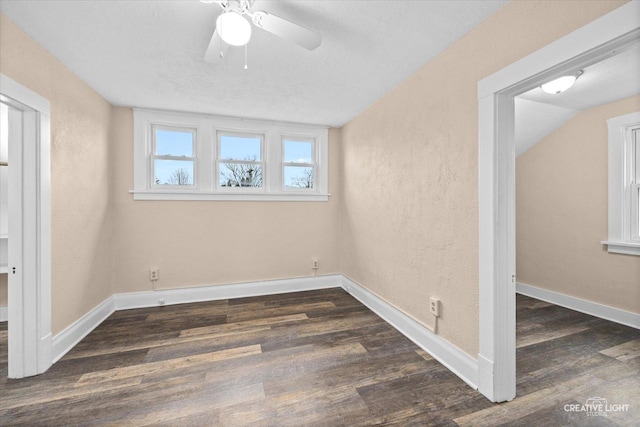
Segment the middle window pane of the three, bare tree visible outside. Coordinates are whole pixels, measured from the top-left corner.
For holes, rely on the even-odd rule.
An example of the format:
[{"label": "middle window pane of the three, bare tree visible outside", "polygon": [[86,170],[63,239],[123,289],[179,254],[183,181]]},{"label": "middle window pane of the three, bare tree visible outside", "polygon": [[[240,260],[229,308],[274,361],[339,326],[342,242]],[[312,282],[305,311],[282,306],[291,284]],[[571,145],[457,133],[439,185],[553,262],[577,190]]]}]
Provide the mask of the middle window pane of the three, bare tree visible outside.
[{"label": "middle window pane of the three, bare tree visible outside", "polygon": [[263,188],[262,135],[218,133],[221,188]]}]

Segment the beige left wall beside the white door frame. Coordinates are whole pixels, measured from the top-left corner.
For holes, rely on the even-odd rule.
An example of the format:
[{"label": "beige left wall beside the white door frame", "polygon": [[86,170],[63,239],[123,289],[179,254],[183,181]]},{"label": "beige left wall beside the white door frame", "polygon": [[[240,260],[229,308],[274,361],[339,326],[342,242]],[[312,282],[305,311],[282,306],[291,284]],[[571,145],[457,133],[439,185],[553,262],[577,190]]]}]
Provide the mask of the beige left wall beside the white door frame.
[{"label": "beige left wall beside the white door frame", "polygon": [[0,72],[51,102],[52,329],[113,292],[112,107],[0,16]]}]

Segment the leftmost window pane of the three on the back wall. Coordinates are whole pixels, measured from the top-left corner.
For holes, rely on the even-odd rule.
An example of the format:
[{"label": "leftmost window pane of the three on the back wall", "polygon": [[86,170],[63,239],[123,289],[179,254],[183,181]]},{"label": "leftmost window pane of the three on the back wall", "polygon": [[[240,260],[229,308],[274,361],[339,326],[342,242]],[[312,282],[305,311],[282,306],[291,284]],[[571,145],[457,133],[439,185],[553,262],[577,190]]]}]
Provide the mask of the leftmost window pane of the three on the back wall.
[{"label": "leftmost window pane of the three on the back wall", "polygon": [[153,186],[194,187],[196,131],[153,126],[152,134]]}]

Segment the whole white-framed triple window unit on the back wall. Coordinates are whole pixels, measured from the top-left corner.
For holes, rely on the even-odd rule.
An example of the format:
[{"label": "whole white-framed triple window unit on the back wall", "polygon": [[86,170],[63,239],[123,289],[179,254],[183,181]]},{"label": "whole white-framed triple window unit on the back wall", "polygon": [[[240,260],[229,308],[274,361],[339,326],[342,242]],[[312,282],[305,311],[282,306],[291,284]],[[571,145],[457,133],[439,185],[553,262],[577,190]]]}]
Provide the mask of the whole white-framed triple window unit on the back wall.
[{"label": "whole white-framed triple window unit on the back wall", "polygon": [[134,200],[326,201],[328,129],[134,110]]}]

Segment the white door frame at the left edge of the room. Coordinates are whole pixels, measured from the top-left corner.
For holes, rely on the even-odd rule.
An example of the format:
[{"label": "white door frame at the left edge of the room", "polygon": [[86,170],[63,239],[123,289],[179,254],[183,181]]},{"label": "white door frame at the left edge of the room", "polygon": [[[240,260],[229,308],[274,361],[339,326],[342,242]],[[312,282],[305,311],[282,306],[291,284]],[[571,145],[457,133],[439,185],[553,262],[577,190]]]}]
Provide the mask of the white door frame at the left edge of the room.
[{"label": "white door frame at the left edge of the room", "polygon": [[[9,377],[22,378],[46,371],[52,361],[50,104],[4,74],[0,74],[0,101],[12,110],[8,194]],[[16,144],[16,140],[21,144]]]}]

